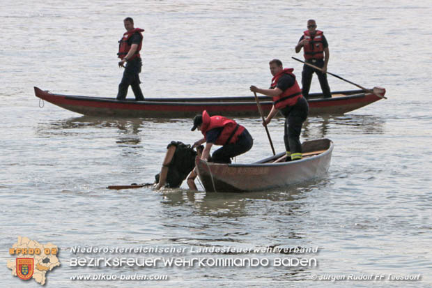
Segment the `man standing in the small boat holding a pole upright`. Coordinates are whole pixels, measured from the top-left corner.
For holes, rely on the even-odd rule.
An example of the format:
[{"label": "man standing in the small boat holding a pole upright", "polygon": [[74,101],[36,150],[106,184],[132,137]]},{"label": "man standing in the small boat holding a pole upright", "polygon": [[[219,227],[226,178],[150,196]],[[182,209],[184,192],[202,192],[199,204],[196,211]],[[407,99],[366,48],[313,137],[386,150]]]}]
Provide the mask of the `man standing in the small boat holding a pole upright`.
[{"label": "man standing in the small boat holding a pole upright", "polygon": [[272,109],[264,119],[263,126],[270,123],[277,112],[281,112],[285,116],[284,143],[286,160],[300,160],[302,159],[300,132],[303,122],[307,119],[309,105],[302,96],[302,90],[295,80],[294,69],[284,69],[279,59],[273,59],[269,64],[270,73],[273,75],[270,89],[260,89],[252,85],[250,90],[273,98]]}]

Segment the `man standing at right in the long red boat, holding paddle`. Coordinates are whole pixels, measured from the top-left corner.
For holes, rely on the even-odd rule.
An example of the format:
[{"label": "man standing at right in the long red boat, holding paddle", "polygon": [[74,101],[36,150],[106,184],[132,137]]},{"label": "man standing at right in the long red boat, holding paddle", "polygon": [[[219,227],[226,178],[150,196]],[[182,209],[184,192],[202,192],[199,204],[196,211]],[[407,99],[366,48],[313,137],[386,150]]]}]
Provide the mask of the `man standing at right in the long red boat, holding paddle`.
[{"label": "man standing at right in the long red boat, holding paddle", "polygon": [[323,31],[316,30],[315,20],[307,21],[307,30],[303,32],[302,37],[295,46],[295,53],[300,52],[303,48],[304,61],[311,63],[323,70],[323,72],[311,68],[306,64],[303,65],[302,71],[302,93],[305,98],[309,98],[309,90],[311,89],[312,76],[314,73],[318,76],[318,80],[323,90],[324,98],[331,98],[330,86],[327,82],[327,63],[330,58],[328,51],[327,39],[325,39]]}]

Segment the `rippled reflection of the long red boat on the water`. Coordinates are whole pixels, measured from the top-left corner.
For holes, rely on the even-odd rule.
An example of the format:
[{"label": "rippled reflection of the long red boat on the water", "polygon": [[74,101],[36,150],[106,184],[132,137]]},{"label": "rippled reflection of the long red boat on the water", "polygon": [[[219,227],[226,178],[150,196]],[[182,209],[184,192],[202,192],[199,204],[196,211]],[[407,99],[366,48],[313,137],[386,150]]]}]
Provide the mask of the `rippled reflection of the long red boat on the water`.
[{"label": "rippled reflection of the long red boat on the water", "polygon": [[[259,126],[261,129],[261,122],[256,119],[241,118],[238,120],[239,123],[249,128]],[[160,133],[160,125],[162,124],[164,125],[164,130],[167,129],[166,124],[169,124],[168,128],[176,130],[180,127],[184,129],[183,126],[185,123],[188,126],[189,121],[190,119],[116,119],[109,117],[80,116],[38,123],[36,126],[36,135],[38,135],[38,137],[54,137],[59,135],[74,137],[80,135],[80,130],[86,129],[88,137],[88,134],[91,134],[91,132],[88,132],[88,128],[114,128],[117,130],[116,144],[119,146],[136,146],[141,143],[141,137],[144,135],[153,136]],[[382,134],[384,132],[384,126],[385,119],[371,115],[348,114],[343,116],[310,117],[303,123],[302,138],[304,140],[318,139],[332,137],[332,135],[340,133],[346,135],[358,133]],[[180,139],[179,137],[182,135],[182,131],[177,130],[173,135],[169,136],[176,136],[175,139]],[[100,137],[100,132],[97,137]]]}]

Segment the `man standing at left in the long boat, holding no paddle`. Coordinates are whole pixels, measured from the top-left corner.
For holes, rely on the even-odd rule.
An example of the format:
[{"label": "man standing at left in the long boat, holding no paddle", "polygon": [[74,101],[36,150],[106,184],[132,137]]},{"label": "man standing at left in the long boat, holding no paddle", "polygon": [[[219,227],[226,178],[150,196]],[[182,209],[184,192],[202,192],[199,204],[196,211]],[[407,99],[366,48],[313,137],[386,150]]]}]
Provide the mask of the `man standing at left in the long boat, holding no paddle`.
[{"label": "man standing at left in the long boat, holding no paddle", "polygon": [[[144,100],[141,88],[139,88],[139,73],[141,73],[141,56],[139,51],[141,50],[143,36],[141,32],[144,29],[134,28],[134,20],[131,17],[123,20],[125,24],[126,32],[123,34],[123,38],[119,41],[118,45],[118,58],[121,59],[118,62],[119,67],[125,68],[123,71],[123,78],[120,84],[118,84],[117,100],[125,100],[128,94],[129,86],[134,91],[136,100]],[[124,65],[126,62],[126,66]]]}]

